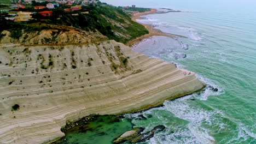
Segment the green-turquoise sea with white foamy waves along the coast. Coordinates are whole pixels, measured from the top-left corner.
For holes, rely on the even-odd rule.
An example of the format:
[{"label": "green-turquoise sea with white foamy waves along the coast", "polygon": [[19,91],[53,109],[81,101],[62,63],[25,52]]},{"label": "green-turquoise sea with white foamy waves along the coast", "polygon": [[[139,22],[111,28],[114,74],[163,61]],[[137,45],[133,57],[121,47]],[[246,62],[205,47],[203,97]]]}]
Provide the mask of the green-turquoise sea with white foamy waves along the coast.
[{"label": "green-turquoise sea with white foamy waves along the coast", "polygon": [[207,87],[117,122],[103,116],[88,131],[67,133],[66,143],[108,144],[132,127],[149,131],[165,125],[139,144],[255,144],[256,13],[183,11],[142,17],[138,22],[183,37],[155,36],[132,49],[194,71]]}]

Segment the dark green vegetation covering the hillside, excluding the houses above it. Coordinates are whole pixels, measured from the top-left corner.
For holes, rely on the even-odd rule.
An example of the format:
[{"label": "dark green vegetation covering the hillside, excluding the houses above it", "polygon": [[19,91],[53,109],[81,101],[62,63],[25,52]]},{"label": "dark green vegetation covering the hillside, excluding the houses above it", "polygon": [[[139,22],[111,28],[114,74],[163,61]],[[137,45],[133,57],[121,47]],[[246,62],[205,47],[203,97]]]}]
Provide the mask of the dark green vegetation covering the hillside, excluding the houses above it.
[{"label": "dark green vegetation covering the hillside, excluding the houses above it", "polygon": [[[24,30],[24,32],[38,32],[43,29],[57,29],[52,28],[51,25],[61,25],[72,26],[95,33],[100,32],[109,39],[114,39],[121,43],[127,43],[127,41],[148,33],[144,26],[133,22],[130,15],[124,13],[121,8],[110,7],[109,5],[102,6],[98,4],[95,6],[89,4],[88,6],[82,6],[82,10],[80,11],[67,12],[63,11],[62,6],[63,8],[67,7],[67,5],[60,5],[60,8],[53,10],[52,16],[43,17],[43,19],[45,19],[44,21],[40,21],[40,19],[42,19],[40,14],[34,14],[34,20],[28,22],[18,23],[1,19],[0,33],[7,30],[10,32],[10,37],[19,39],[22,35],[22,30]],[[148,10],[143,8],[135,9],[140,11]],[[89,11],[89,14],[83,14],[83,11]],[[68,31],[65,28],[57,30],[58,32]],[[48,43],[53,41],[53,39],[48,38],[44,38],[44,40]]]}]

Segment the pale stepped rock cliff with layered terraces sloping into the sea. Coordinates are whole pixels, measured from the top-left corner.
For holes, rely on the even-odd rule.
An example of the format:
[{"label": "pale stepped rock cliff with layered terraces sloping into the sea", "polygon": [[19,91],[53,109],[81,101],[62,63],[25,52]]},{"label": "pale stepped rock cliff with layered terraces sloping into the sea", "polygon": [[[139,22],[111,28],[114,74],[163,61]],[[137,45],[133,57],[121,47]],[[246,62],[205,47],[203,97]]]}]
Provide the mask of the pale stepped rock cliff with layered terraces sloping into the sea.
[{"label": "pale stepped rock cliff with layered terraces sloping into the sea", "polygon": [[0,61],[0,143],[47,142],[65,135],[66,122],[146,109],[204,87],[194,73],[114,40],[5,44]]}]

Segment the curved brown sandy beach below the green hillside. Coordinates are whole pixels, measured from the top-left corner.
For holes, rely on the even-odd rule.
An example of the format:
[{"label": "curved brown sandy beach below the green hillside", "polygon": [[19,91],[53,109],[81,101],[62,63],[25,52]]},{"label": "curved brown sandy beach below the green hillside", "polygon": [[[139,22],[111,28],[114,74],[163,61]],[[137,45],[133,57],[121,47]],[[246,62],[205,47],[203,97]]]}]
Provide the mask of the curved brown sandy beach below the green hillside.
[{"label": "curved brown sandy beach below the green hillside", "polygon": [[[150,11],[146,11],[146,12],[143,12],[143,13],[133,13],[132,14],[132,21],[137,22],[136,20],[142,19],[141,16],[149,15],[149,14],[157,14],[157,9],[151,9]],[[165,37],[170,37],[170,38],[180,36],[180,35],[164,33],[164,32],[162,32],[158,29],[154,29],[153,26],[150,26],[150,25],[147,25],[147,24],[144,24],[144,23],[140,23],[140,22],[137,22],[137,23],[143,25],[148,30],[149,33],[145,34],[145,35],[142,35],[141,37],[138,37],[138,38],[135,38],[135,39],[132,39],[132,40],[128,41],[125,44],[127,46],[131,47],[132,45],[135,45],[135,44],[141,42],[142,40],[148,39],[148,38],[153,37],[153,36],[165,36]],[[182,36],[180,36],[180,37],[182,37]]]}]

